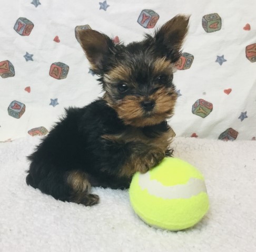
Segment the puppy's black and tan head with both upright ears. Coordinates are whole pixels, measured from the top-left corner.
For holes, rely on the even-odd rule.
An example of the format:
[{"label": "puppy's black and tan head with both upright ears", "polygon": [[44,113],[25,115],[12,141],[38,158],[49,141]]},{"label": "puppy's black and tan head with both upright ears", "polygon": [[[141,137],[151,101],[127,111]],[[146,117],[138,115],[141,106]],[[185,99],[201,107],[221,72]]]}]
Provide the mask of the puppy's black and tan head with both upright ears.
[{"label": "puppy's black and tan head with both upright ears", "polygon": [[100,76],[104,99],[125,124],[144,127],[173,115],[174,65],[181,56],[188,23],[188,17],[175,16],[153,36],[127,46],[114,44],[95,30],[78,31],[91,69]]}]

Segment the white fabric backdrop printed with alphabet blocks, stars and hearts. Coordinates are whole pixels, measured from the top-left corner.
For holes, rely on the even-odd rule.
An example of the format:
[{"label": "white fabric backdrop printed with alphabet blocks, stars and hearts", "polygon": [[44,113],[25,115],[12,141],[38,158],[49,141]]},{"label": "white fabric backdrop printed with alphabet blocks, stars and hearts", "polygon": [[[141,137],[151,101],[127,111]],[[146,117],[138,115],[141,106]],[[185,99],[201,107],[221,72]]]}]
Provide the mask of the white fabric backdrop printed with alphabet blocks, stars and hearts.
[{"label": "white fabric backdrop printed with alphabet blocks, stars and hearts", "polygon": [[76,26],[130,43],[180,13],[191,18],[174,76],[174,132],[255,140],[255,9],[255,0],[2,0],[0,141],[46,134],[65,107],[102,95]]}]

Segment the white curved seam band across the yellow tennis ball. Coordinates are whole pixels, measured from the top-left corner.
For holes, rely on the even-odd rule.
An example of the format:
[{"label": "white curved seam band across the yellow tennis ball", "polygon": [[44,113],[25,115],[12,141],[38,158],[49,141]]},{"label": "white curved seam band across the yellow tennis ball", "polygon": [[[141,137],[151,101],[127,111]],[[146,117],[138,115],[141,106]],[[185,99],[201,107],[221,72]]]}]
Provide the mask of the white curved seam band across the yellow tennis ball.
[{"label": "white curved seam band across the yellow tennis ball", "polygon": [[199,193],[207,193],[203,180],[191,177],[186,184],[165,186],[156,180],[150,179],[150,173],[139,174],[139,185],[149,194],[165,199],[190,198]]}]

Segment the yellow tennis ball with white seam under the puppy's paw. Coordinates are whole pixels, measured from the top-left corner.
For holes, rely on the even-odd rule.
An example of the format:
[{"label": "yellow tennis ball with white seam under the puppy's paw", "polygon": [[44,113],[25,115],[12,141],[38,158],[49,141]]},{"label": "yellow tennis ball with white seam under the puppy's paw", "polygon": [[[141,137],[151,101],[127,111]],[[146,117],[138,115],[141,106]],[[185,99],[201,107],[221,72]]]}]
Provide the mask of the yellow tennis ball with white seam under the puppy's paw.
[{"label": "yellow tennis ball with white seam under the puppy's paw", "polygon": [[203,175],[177,158],[164,158],[151,171],[135,173],[129,194],[135,213],[162,229],[192,227],[209,209]]}]

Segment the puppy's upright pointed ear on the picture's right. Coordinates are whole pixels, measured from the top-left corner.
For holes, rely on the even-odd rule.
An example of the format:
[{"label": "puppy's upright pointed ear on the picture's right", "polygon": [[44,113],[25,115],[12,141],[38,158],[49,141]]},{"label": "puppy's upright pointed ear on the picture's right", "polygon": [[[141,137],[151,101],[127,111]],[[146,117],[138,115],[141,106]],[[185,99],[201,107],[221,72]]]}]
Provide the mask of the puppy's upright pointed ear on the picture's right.
[{"label": "puppy's upright pointed ear on the picture's right", "polygon": [[177,15],[155,33],[155,50],[161,56],[176,62],[181,56],[183,40],[188,33],[189,16]]}]

